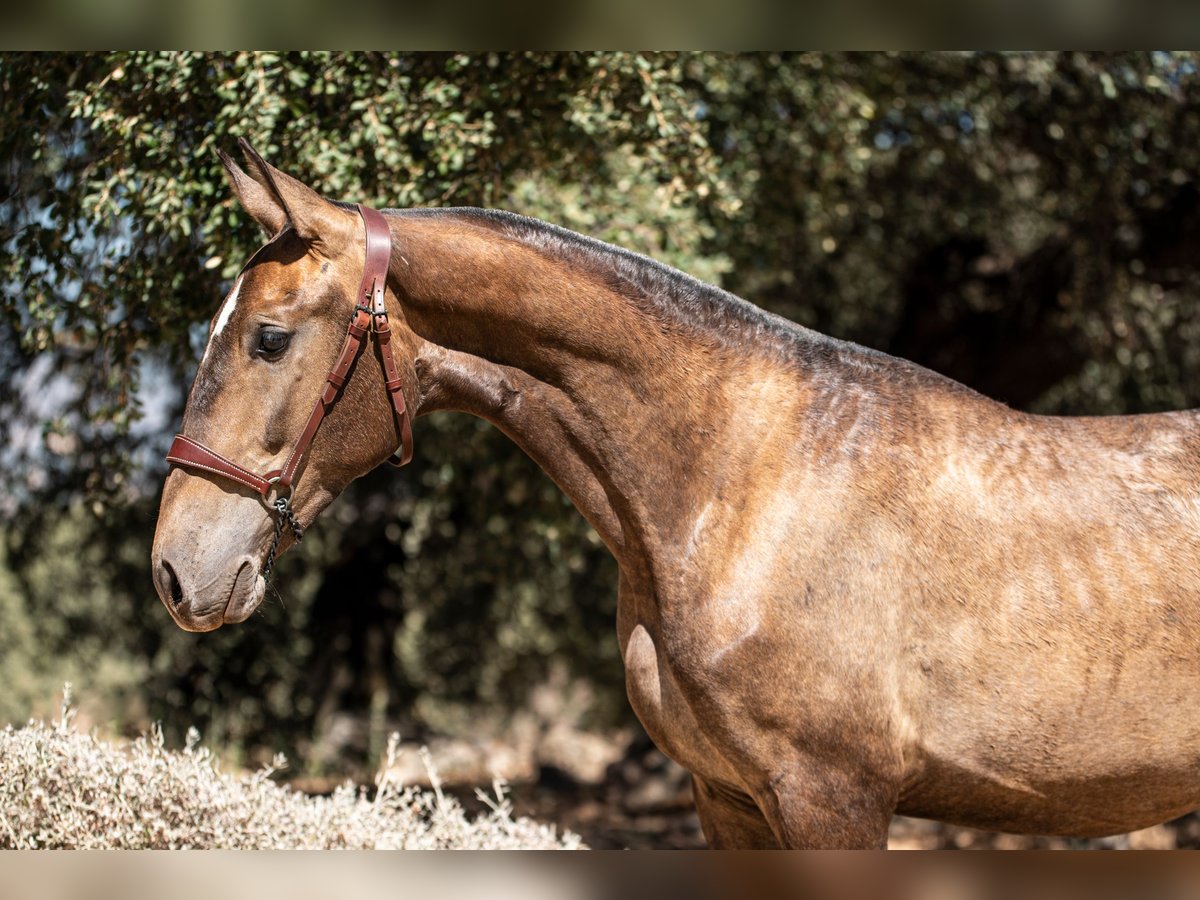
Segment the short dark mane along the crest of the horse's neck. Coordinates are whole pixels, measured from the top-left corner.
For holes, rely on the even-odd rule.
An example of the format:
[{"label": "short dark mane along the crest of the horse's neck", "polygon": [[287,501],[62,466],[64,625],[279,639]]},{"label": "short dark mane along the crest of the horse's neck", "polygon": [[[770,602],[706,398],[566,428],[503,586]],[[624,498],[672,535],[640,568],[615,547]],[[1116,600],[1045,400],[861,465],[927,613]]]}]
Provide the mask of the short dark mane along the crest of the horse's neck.
[{"label": "short dark mane along the crest of the horse's neck", "polygon": [[569,259],[587,268],[647,313],[695,330],[720,347],[742,353],[769,353],[785,364],[826,364],[850,372],[856,380],[920,383],[974,394],[907,360],[806,329],[656,259],[538,218],[473,206],[386,209],[384,212],[397,217],[467,220],[556,259]]}]

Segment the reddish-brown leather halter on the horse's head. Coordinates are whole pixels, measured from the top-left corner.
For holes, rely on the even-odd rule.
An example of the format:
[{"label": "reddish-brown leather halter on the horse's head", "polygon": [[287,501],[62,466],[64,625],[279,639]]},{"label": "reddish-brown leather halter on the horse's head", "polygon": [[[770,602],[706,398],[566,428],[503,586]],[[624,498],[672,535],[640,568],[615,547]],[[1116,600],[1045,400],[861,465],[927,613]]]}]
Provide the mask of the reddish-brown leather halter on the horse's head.
[{"label": "reddish-brown leather halter on the horse's head", "polygon": [[396,362],[391,355],[391,329],[388,325],[388,307],[384,305],[388,263],[391,259],[391,232],[388,229],[388,222],[383,214],[378,210],[360,203],[359,215],[362,216],[362,223],[366,226],[367,238],[366,262],[362,265],[362,281],[355,299],[354,316],[347,329],[342,352],[325,378],[325,389],[317,398],[308,422],[300,433],[300,439],[292,448],[292,452],[288,454],[283,468],[257,475],[186,434],[176,434],[170,444],[170,450],[167,451],[167,462],[186,469],[194,469],[202,474],[218,475],[235,481],[254,491],[264,500],[272,490],[278,493],[271,504],[275,511],[275,538],[263,564],[264,577],[270,576],[275,564],[275,551],[278,550],[284,522],[290,527],[296,542],[304,536],[304,528],[292,510],[292,485],[296,469],[308,451],[312,439],[317,436],[320,422],[334,408],[337,398],[342,396],[347,373],[366,344],[370,331],[374,331],[376,342],[379,344],[379,355],[383,358],[384,388],[388,389],[388,397],[391,400],[391,408],[396,415],[396,427],[400,431],[400,449],[392,454],[388,462],[392,466],[403,466],[413,458],[413,428],[409,422],[408,408],[404,406],[404,391],[400,374],[396,372]]}]

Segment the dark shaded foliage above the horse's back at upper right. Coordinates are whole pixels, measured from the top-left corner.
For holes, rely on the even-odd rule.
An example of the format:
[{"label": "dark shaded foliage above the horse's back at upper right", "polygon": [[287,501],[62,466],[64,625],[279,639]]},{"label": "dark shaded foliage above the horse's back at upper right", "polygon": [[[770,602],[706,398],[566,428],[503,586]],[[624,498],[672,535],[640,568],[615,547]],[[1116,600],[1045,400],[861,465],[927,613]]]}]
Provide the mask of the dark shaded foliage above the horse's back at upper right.
[{"label": "dark shaded foliage above the horse's back at upper right", "polygon": [[1194,54],[724,62],[727,287],[1038,412],[1200,400]]}]

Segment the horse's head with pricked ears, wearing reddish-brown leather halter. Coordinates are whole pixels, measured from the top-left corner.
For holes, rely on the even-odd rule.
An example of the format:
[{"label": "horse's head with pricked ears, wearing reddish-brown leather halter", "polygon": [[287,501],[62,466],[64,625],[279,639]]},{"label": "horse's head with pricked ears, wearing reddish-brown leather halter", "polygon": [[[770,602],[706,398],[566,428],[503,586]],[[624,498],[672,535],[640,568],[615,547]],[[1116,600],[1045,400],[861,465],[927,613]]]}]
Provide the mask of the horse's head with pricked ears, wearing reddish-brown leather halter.
[{"label": "horse's head with pricked ears, wearing reddish-brown leather halter", "polygon": [[[257,608],[284,515],[293,528],[280,550],[350,481],[396,452],[397,413],[410,452],[403,391],[415,385],[418,338],[386,286],[383,217],[332,203],[241,146],[250,174],[221,158],[269,240],[209,326],[168,457],[176,464],[163,486],[152,551],[158,596],[190,631],[241,622]],[[370,262],[368,212],[386,244],[376,247],[374,310],[372,288],[367,296],[356,292]],[[355,346],[349,354],[355,328],[366,352]],[[365,334],[372,328],[373,350]],[[331,370],[343,361],[337,376]]]}]

